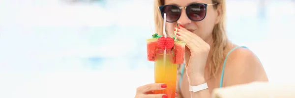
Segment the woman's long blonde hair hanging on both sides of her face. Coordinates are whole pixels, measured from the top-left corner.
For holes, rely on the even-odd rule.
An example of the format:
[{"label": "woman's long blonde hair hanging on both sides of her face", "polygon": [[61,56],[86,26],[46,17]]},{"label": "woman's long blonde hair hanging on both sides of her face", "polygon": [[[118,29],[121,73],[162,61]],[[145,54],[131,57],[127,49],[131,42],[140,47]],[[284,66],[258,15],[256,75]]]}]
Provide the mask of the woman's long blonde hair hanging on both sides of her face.
[{"label": "woman's long blonde hair hanging on both sides of her face", "polygon": [[[221,7],[221,17],[219,20],[219,23],[214,25],[213,28],[213,52],[211,62],[209,63],[209,73],[210,76],[216,76],[216,73],[219,71],[220,66],[223,63],[223,60],[225,58],[225,52],[226,47],[228,45],[228,38],[226,35],[225,30],[225,23],[226,23],[226,6],[225,6],[225,0],[212,0],[212,3],[217,3],[217,5],[214,6],[214,9],[217,9],[218,6]],[[159,10],[159,6],[164,5],[164,0],[154,0],[154,23],[156,32],[162,32],[163,31],[163,18],[161,16],[161,12]]]}]

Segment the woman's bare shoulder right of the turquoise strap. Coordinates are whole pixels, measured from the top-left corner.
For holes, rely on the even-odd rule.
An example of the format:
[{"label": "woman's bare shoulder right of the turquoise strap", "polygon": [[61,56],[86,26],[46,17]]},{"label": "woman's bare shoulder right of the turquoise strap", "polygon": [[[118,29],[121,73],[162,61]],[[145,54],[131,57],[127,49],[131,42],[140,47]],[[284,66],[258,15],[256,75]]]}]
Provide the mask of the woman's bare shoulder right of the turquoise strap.
[{"label": "woman's bare shoulder right of the turquoise strap", "polygon": [[226,61],[224,85],[231,86],[254,81],[268,81],[259,58],[249,49],[235,49]]}]

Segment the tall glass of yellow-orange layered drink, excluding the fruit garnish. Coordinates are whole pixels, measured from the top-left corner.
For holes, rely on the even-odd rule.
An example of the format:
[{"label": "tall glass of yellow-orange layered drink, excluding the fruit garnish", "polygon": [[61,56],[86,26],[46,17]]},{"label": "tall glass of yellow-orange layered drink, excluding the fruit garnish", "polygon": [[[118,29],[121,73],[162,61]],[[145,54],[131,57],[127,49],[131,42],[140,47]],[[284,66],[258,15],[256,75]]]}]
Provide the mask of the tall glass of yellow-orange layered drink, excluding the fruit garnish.
[{"label": "tall glass of yellow-orange layered drink, excluding the fruit garnish", "polygon": [[156,49],[154,65],[155,83],[164,83],[167,88],[154,91],[154,94],[167,94],[168,98],[175,98],[177,64],[175,64],[174,49]]}]

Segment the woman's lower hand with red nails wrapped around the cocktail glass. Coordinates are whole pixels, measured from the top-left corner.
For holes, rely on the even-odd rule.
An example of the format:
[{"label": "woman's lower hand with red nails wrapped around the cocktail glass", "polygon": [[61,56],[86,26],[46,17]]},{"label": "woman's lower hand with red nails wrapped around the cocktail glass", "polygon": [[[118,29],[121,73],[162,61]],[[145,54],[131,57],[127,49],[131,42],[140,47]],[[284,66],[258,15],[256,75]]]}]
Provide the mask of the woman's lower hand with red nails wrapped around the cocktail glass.
[{"label": "woman's lower hand with red nails wrapped around the cocktail glass", "polygon": [[[153,94],[155,90],[164,90],[167,85],[163,83],[151,83],[144,86],[140,86],[136,89],[135,98],[167,98],[166,94]],[[176,93],[176,97],[178,94]]]}]

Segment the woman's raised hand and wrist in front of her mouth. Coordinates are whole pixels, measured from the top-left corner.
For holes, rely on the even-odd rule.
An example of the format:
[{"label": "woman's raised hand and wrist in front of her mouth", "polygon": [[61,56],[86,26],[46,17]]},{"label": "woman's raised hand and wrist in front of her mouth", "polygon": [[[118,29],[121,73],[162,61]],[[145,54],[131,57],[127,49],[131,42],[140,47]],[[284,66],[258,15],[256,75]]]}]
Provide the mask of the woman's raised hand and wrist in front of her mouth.
[{"label": "woman's raised hand and wrist in front of her mouth", "polygon": [[177,38],[186,42],[184,60],[188,77],[204,77],[210,46],[199,36],[182,25],[177,29]]}]

